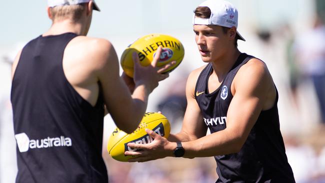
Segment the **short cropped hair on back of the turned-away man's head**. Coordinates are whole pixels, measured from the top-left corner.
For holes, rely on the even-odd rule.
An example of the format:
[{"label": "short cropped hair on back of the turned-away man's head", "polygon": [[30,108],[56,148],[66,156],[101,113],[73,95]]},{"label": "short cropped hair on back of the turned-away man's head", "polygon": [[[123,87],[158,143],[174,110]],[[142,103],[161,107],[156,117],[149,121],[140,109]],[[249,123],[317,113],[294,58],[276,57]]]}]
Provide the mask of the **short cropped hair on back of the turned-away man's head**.
[{"label": "short cropped hair on back of the turned-away man's head", "polygon": [[70,19],[76,22],[80,19],[85,8],[84,3],[51,7],[50,13],[52,15],[52,21]]}]

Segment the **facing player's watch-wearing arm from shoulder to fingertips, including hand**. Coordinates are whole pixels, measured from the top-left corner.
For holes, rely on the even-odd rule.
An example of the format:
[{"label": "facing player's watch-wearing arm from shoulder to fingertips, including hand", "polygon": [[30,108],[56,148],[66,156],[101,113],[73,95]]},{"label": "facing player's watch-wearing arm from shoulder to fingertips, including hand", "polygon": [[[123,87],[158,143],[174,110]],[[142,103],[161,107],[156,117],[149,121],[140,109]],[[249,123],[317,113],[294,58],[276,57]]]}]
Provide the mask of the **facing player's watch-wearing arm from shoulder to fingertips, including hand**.
[{"label": "facing player's watch-wearing arm from shoulder to fingertips, including hand", "polygon": [[[200,134],[190,132],[191,130],[188,130],[185,124],[183,129],[186,134],[174,135],[177,139],[185,139],[182,142],[185,149],[183,157],[204,157],[238,152],[260,111],[269,109],[274,104],[275,88],[272,78],[265,64],[258,59],[251,59],[242,66],[232,84],[231,90],[234,91],[234,95],[227,112],[227,127],[224,130],[200,137],[203,131]],[[196,120],[199,120],[199,117]],[[147,161],[173,155],[172,151],[176,147],[175,142],[167,141],[153,131],[148,131],[148,133],[154,138],[153,142],[128,144],[133,148],[144,149],[139,152],[125,152],[126,155],[137,155],[130,161]],[[190,138],[196,139],[187,141]]]}]

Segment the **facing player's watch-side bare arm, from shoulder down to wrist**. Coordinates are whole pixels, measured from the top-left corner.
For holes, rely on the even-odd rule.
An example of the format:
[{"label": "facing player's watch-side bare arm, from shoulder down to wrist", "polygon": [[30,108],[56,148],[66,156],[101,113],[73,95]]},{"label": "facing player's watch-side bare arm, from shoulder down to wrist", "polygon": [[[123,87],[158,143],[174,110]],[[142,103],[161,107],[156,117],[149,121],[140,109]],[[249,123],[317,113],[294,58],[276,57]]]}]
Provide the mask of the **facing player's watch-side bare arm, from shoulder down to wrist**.
[{"label": "facing player's watch-side bare arm, from shoulder down to wrist", "polygon": [[184,157],[238,152],[262,109],[272,106],[275,92],[270,74],[261,61],[250,60],[233,81],[234,96],[227,112],[227,127],[194,141],[184,142]]}]

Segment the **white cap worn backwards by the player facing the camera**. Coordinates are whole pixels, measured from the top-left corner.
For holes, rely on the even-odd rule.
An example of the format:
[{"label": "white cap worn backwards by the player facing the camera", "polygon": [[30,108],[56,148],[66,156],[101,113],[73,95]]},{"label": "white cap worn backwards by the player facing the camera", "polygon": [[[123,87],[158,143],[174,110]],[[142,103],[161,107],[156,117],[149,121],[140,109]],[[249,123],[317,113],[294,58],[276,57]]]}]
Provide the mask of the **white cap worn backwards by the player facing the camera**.
[{"label": "white cap worn backwards by the player facing the camera", "polygon": [[[210,8],[209,18],[200,18],[193,16],[193,25],[219,25],[225,27],[238,26],[238,10],[230,2],[225,0],[206,0],[198,6]],[[237,31],[238,39],[245,40]]]}]

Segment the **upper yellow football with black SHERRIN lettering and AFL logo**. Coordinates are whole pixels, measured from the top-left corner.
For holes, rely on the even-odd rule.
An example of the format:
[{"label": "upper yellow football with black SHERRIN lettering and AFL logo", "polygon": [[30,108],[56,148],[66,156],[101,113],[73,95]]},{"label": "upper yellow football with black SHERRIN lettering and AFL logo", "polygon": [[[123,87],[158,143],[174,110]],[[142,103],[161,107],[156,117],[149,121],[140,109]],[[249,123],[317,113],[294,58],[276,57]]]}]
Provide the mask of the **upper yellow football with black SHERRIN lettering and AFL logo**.
[{"label": "upper yellow football with black SHERRIN lettering and AFL logo", "polygon": [[123,51],[120,64],[126,75],[133,77],[132,54],[134,51],[139,56],[140,64],[147,66],[153,60],[160,45],[162,46],[162,52],[156,66],[163,66],[174,60],[176,63],[165,72],[175,69],[184,57],[183,45],[178,39],[170,35],[152,33],[138,38]]}]

